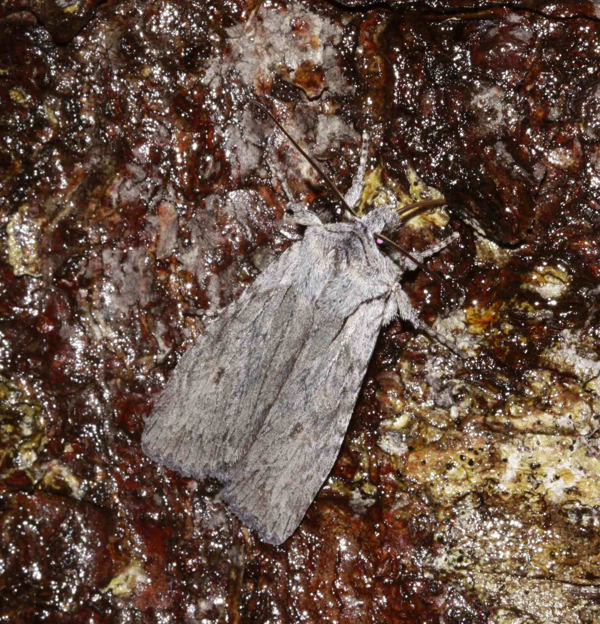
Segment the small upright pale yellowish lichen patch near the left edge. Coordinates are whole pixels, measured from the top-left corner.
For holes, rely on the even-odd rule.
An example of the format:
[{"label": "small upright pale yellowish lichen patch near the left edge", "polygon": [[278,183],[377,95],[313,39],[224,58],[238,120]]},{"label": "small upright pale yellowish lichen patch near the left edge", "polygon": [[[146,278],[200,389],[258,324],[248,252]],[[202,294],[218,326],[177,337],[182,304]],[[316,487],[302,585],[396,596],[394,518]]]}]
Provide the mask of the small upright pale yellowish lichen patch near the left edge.
[{"label": "small upright pale yellowish lichen patch near the left edge", "polygon": [[31,215],[29,205],[22,204],[6,226],[8,261],[14,275],[41,275],[38,256],[41,235],[41,220]]}]

